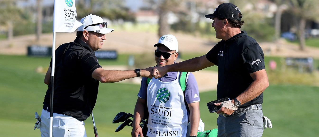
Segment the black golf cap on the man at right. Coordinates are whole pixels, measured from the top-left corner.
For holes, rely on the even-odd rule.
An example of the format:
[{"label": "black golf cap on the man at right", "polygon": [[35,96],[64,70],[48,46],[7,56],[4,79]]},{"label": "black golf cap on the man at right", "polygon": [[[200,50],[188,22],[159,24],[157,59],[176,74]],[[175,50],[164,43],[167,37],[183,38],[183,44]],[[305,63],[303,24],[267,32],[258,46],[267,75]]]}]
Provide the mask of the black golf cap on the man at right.
[{"label": "black golf cap on the man at right", "polygon": [[221,17],[241,21],[241,17],[237,17],[239,13],[241,14],[240,9],[236,5],[232,3],[222,3],[215,9],[213,14],[205,15],[205,17]]}]

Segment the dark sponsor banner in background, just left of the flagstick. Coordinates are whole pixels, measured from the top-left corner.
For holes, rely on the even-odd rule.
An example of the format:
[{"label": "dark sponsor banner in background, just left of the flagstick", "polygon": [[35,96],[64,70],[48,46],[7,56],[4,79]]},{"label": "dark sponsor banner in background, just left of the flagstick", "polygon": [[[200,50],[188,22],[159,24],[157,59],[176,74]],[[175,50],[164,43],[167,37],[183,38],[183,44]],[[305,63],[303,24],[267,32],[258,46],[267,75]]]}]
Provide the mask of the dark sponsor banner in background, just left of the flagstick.
[{"label": "dark sponsor banner in background, just left of the flagstick", "polygon": [[28,46],[28,56],[46,57],[52,55],[52,47],[44,47],[39,45]]}]

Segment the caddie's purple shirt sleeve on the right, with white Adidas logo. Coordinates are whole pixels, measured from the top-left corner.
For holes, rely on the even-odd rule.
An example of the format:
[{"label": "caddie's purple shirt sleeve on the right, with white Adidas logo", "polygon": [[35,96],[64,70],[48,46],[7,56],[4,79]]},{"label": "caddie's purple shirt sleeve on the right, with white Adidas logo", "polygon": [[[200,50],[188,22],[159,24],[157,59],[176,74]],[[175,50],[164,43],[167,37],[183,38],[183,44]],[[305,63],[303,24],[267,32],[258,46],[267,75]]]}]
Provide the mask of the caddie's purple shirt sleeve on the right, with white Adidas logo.
[{"label": "caddie's purple shirt sleeve on the right, with white Adidas logo", "polygon": [[189,73],[186,81],[185,99],[188,104],[200,101],[197,82],[192,73]]}]

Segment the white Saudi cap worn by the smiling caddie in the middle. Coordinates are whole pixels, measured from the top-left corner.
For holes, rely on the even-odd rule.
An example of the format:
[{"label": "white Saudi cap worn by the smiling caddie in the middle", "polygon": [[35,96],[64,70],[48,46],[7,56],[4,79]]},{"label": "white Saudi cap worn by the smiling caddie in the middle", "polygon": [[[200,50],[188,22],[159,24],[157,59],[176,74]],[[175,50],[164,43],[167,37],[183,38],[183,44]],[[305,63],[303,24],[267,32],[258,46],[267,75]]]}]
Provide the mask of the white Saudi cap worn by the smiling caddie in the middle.
[{"label": "white Saudi cap worn by the smiling caddie in the middle", "polygon": [[171,51],[178,52],[178,42],[175,36],[171,34],[164,35],[159,38],[159,43],[155,44],[154,47],[156,47],[158,44],[165,45],[168,49]]}]

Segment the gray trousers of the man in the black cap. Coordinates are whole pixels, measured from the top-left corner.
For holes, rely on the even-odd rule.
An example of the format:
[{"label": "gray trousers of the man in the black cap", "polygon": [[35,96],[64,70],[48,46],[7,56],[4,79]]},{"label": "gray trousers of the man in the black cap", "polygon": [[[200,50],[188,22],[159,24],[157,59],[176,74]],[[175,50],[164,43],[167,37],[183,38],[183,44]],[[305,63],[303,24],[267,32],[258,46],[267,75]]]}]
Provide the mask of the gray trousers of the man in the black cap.
[{"label": "gray trousers of the man in the black cap", "polygon": [[218,137],[261,137],[262,117],[262,110],[248,110],[228,117],[219,114]]}]

